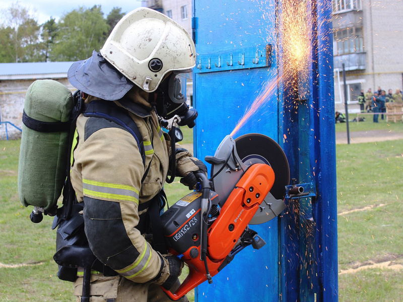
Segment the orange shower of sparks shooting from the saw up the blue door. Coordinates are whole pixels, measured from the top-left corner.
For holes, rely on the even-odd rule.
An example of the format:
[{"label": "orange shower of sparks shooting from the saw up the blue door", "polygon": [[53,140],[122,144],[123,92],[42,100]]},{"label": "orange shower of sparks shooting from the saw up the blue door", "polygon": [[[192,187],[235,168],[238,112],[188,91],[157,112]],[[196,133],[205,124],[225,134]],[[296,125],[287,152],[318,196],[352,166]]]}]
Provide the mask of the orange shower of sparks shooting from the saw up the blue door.
[{"label": "orange shower of sparks shooting from the saw up the blue door", "polygon": [[[283,0],[279,4],[279,16],[276,17],[273,7],[268,7],[269,12],[266,12],[266,2],[260,2],[260,10],[263,12],[262,19],[271,20],[272,24],[277,25],[275,36],[279,43],[275,43],[277,45],[275,53],[281,54],[278,56],[278,74],[277,77],[272,77],[272,80],[266,82],[231,135],[242,128],[256,112],[262,112],[262,106],[272,99],[281,86],[284,91],[293,96],[294,102],[298,101],[299,95],[303,96],[308,92],[307,87],[309,87],[313,62],[312,47],[316,35],[312,20],[314,16],[312,8],[315,5],[315,0]],[[266,31],[267,36],[273,36],[272,28],[267,28]]]}]

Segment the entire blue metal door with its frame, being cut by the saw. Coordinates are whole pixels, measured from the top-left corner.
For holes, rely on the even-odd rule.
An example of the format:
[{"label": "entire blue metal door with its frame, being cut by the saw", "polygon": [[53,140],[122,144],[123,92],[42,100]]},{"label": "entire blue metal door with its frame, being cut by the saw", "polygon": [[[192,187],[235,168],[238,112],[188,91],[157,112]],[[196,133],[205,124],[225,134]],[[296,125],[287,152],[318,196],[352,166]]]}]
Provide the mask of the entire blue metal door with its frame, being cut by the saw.
[{"label": "entire blue metal door with its frame, being cut by the saw", "polygon": [[309,190],[286,199],[281,218],[252,225],[266,245],[240,252],[196,288],[196,301],[337,301],[331,3],[310,8],[312,62],[296,103],[284,84],[278,0],[193,0],[195,156],[214,155],[227,134],[262,133],[283,146],[291,177]]}]

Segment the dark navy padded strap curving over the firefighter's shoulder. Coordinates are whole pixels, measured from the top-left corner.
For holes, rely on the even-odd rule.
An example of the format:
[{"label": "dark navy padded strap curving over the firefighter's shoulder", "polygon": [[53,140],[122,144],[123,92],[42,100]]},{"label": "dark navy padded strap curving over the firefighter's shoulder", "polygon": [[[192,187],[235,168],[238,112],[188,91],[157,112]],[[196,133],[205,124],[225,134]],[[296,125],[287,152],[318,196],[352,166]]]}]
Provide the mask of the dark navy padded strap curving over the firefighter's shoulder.
[{"label": "dark navy padded strap curving over the firefighter's shoulder", "polygon": [[84,116],[102,117],[109,121],[112,121],[119,126],[124,127],[133,137],[136,139],[137,145],[140,149],[143,165],[146,164],[146,154],[144,150],[144,142],[139,128],[135,121],[125,112],[126,110],[120,109],[114,102],[96,100],[90,104],[85,105]]}]

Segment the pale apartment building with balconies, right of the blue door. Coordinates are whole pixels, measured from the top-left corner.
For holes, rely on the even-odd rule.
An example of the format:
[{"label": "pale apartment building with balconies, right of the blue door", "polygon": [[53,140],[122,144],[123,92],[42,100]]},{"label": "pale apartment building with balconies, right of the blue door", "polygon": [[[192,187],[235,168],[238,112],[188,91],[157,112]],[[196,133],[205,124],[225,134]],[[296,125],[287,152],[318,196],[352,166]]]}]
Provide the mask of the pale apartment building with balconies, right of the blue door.
[{"label": "pale apartment building with balconies, right of the blue door", "polygon": [[[403,2],[400,0],[332,0],[334,102],[344,110],[342,63],[348,104],[357,104],[361,89],[402,90]],[[358,111],[359,107],[349,107]]]}]

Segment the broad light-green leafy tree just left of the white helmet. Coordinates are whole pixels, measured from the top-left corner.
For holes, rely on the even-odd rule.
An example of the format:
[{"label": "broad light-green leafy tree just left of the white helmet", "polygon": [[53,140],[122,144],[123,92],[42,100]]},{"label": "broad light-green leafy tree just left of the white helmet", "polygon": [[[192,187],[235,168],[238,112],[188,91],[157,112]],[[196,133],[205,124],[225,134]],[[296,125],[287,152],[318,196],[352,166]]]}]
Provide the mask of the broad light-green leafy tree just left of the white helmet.
[{"label": "broad light-green leafy tree just left of the white helmet", "polygon": [[52,61],[77,61],[99,51],[105,42],[108,25],[101,6],[80,7],[62,16],[49,58]]}]

